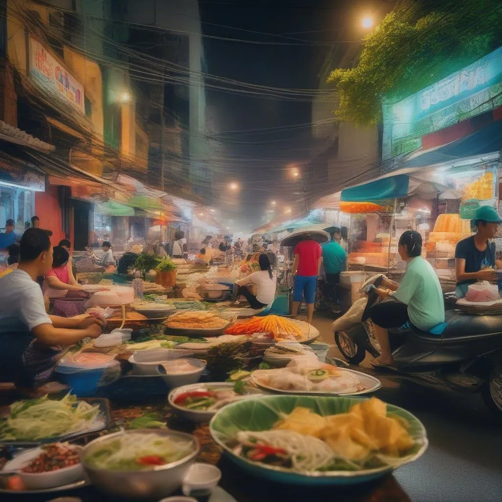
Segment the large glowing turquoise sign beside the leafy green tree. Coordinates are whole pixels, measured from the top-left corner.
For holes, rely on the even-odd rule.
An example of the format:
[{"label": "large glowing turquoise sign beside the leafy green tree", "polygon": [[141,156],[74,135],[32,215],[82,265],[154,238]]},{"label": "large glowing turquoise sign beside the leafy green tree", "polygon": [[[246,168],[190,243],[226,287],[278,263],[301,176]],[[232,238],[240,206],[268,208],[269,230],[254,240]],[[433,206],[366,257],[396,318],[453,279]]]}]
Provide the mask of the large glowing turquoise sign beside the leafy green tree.
[{"label": "large glowing turquoise sign beside the leafy green tree", "polygon": [[434,133],[502,105],[502,47],[395,104],[384,104],[382,158],[422,146]]}]

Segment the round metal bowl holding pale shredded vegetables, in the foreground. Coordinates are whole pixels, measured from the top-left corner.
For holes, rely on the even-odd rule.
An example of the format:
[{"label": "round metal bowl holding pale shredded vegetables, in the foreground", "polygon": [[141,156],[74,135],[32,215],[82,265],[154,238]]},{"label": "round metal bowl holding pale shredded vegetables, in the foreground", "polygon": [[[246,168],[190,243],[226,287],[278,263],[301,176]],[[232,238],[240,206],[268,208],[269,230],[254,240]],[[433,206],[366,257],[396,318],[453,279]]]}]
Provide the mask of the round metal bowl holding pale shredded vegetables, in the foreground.
[{"label": "round metal bowl holding pale shredded vegetables, in the foreground", "polygon": [[[86,455],[99,448],[103,442],[107,442],[122,434],[158,434],[159,436],[189,438],[194,443],[194,450],[190,455],[181,460],[166,465],[159,465],[151,470],[112,471],[97,469],[85,462]],[[108,434],[91,441],[80,453],[80,461],[89,480],[101,491],[123,498],[159,499],[170,495],[183,484],[183,478],[194,463],[199,451],[199,440],[190,434],[167,429],[138,429]]]}]

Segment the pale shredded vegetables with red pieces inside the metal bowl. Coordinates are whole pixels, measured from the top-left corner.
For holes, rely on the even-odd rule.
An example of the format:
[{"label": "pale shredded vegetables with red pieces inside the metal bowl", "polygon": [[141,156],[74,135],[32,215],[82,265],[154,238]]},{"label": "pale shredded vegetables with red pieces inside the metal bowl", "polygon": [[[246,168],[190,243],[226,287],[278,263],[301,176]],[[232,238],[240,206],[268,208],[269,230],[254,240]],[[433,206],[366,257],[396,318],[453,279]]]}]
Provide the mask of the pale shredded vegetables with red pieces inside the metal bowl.
[{"label": "pale shredded vegetables with red pieces inside the metal bowl", "polygon": [[87,453],[85,462],[98,469],[147,470],[181,460],[194,449],[192,439],[126,433],[103,441]]}]

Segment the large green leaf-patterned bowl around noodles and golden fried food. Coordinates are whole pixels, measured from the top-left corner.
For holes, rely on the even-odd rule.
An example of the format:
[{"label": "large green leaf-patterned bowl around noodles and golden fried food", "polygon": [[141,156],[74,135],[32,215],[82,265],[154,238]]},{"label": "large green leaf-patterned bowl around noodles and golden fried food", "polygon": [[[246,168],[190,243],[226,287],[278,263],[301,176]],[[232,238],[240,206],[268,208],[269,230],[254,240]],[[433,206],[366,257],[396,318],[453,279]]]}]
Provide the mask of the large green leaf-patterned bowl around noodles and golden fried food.
[{"label": "large green leaf-patterned bowl around noodles and golden fried food", "polygon": [[[358,484],[370,481],[392,472],[401,465],[419,458],[427,449],[428,441],[422,423],[411,413],[393,405],[387,405],[387,412],[399,415],[410,424],[409,433],[415,446],[392,466],[358,471],[338,470],[326,472],[293,472],[285,467],[277,467],[261,462],[253,462],[236,455],[232,447],[234,437],[240,431],[264,431],[296,407],[310,408],[319,415],[336,415],[347,412],[353,405],[364,401],[362,398],[314,397],[314,396],[262,396],[256,399],[237,401],[219,410],[211,420],[209,429],[213,439],[223,448],[233,462],[244,470],[273,481],[302,485]],[[232,444],[233,443],[233,444]]]}]

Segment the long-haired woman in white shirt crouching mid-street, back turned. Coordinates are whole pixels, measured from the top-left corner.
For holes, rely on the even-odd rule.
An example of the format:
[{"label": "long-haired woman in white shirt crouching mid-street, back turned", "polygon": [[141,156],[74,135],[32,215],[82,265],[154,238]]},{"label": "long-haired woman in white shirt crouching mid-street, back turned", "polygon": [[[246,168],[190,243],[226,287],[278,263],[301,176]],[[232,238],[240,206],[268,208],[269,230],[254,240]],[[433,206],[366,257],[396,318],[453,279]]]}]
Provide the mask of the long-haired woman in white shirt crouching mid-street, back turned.
[{"label": "long-haired woman in white shirt crouching mid-street, back turned", "polygon": [[[243,295],[252,309],[262,309],[270,305],[276,296],[276,277],[272,273],[269,257],[265,254],[260,255],[258,263],[260,264],[260,272],[254,272],[244,279],[240,279],[235,283],[233,290],[234,298]],[[253,295],[247,288],[250,285],[256,286],[256,295]]]}]

